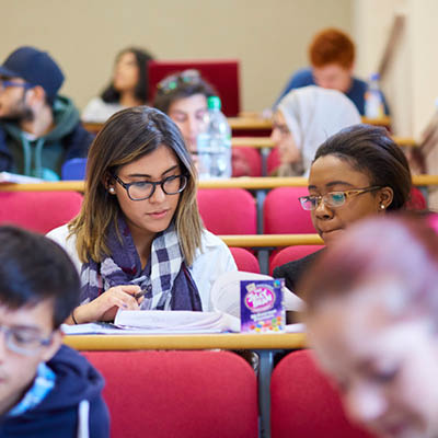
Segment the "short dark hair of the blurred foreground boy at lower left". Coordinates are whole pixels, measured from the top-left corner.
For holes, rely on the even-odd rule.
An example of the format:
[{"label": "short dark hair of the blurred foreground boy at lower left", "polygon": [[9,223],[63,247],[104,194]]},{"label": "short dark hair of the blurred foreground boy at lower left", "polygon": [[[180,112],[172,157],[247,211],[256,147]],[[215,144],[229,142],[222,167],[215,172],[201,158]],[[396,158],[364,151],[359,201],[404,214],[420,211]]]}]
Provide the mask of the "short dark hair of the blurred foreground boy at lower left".
[{"label": "short dark hair of the blurred foreground boy at lower left", "polygon": [[16,310],[53,301],[58,328],[79,306],[80,280],[54,241],[16,227],[0,227],[0,304]]}]

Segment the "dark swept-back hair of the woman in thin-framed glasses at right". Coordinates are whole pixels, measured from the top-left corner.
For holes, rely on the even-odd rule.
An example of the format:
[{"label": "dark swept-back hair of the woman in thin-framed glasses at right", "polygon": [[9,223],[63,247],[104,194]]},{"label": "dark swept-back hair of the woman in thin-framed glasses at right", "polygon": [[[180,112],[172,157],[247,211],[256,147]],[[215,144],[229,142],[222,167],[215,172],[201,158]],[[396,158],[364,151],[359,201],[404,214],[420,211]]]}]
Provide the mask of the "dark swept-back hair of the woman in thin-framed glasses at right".
[{"label": "dark swept-back hair of the woman in thin-framed glasses at right", "polygon": [[354,125],[342,129],[319,147],[313,162],[325,155],[335,155],[368,174],[371,185],[391,187],[394,197],[388,210],[405,208],[412,188],[411,170],[403,151],[385,128]]}]

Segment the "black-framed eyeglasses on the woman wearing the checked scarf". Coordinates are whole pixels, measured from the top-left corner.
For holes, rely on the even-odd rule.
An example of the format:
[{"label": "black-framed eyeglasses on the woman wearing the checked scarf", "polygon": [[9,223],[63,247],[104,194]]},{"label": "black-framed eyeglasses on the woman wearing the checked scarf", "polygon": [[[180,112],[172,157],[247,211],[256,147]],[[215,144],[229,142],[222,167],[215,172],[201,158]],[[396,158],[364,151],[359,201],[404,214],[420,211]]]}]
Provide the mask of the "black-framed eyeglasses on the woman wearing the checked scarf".
[{"label": "black-framed eyeglasses on the woman wearing the checked scarf", "polygon": [[113,177],[125,188],[131,200],[149,199],[155,193],[158,185],[166,195],[177,195],[184,191],[188,181],[187,175],[172,175],[157,182],[135,181],[134,183],[125,183],[117,175]]}]

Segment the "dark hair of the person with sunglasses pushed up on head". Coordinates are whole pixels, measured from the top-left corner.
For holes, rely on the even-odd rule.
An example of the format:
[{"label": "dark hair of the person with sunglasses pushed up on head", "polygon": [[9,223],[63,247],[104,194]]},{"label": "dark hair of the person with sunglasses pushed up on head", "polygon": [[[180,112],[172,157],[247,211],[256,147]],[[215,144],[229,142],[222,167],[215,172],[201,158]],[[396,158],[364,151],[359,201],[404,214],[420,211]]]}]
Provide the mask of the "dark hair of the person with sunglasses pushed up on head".
[{"label": "dark hair of the person with sunglasses pushed up on head", "polygon": [[[177,73],[171,76],[177,77]],[[191,97],[195,94],[203,94],[206,99],[218,95],[215,88],[201,77],[196,82],[176,81],[176,83],[177,87],[172,90],[157,89],[153,106],[164,114],[169,114],[171,105],[180,99]]]}]

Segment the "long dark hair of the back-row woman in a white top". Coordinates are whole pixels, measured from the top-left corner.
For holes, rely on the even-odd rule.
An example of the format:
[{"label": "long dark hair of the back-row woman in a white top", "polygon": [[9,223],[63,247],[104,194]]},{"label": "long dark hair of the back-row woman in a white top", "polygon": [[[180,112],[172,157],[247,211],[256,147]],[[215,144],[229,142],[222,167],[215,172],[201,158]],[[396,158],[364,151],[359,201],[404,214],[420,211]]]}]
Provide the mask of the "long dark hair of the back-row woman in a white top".
[{"label": "long dark hair of the back-row woman in a white top", "polygon": [[[136,48],[128,47],[122,50],[117,57],[115,64],[120,59],[120,57],[125,54],[132,54],[136,57],[137,67],[138,67],[138,83],[135,90],[135,96],[141,103],[148,103],[149,100],[149,69],[148,62],[153,59],[152,55],[148,51]],[[101,97],[106,103],[118,103],[120,100],[120,93],[114,88],[114,82],[102,92]]]}]

